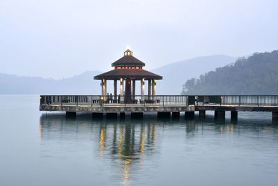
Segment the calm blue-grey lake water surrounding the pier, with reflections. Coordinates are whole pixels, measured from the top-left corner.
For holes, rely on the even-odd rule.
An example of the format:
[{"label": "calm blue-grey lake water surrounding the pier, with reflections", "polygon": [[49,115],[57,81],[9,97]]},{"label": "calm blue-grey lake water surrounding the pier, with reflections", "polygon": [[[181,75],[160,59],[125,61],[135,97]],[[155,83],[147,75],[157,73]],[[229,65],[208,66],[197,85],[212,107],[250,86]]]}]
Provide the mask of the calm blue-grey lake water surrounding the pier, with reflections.
[{"label": "calm blue-grey lake water surrounding the pier, with reflections", "polygon": [[39,101],[0,95],[0,185],[278,185],[270,113],[66,118]]}]

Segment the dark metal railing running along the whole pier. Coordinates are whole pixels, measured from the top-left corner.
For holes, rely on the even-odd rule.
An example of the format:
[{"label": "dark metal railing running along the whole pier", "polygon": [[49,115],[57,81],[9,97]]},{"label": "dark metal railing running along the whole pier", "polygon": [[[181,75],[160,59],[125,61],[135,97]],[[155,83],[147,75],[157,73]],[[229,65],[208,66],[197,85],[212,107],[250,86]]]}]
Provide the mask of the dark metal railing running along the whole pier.
[{"label": "dark metal railing running along the whole pier", "polygon": [[278,106],[278,95],[40,95],[40,104]]}]

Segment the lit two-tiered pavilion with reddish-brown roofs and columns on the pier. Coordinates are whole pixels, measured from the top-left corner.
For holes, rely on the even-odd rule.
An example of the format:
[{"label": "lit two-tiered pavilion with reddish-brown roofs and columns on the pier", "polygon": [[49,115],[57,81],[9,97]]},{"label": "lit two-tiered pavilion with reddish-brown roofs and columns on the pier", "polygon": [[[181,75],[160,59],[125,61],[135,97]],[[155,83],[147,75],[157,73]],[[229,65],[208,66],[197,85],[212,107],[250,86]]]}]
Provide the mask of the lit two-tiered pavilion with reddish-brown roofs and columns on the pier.
[{"label": "lit two-tiered pavilion with reddish-brown roofs and columns on the pier", "polygon": [[[118,59],[117,61],[112,63],[112,67],[114,68],[113,70],[94,77],[94,79],[101,80],[101,97],[104,99],[104,102],[107,102],[107,100],[109,99],[106,95],[107,80],[114,80],[113,102],[117,102],[118,80],[120,81],[120,103],[135,103],[134,101],[136,96],[136,80],[140,81],[141,83],[140,103],[144,103],[145,101],[155,102],[156,80],[162,79],[162,76],[156,75],[147,70],[143,70],[142,68],[145,67],[145,63],[143,63],[139,59],[136,59],[136,57],[133,56],[133,52],[127,49],[124,52],[124,56],[121,59]],[[148,81],[147,100],[145,100],[145,80]]]}]

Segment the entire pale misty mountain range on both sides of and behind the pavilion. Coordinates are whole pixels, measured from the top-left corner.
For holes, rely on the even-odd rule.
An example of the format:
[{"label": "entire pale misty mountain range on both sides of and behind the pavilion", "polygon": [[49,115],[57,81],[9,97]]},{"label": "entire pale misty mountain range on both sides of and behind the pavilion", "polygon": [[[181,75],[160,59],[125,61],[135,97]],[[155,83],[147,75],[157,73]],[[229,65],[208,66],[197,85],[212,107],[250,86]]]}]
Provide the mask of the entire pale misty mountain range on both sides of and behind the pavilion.
[{"label": "entire pale misty mountain range on both sides of and behind the pavilion", "polygon": [[[236,58],[231,56],[203,56],[150,70],[163,76],[157,81],[156,94],[180,94],[186,80],[234,61]],[[87,71],[60,80],[0,74],[0,94],[101,94],[100,81],[93,79],[101,73]],[[113,82],[108,81],[107,91],[113,92]],[[136,94],[140,94],[140,82],[136,84]]]}]

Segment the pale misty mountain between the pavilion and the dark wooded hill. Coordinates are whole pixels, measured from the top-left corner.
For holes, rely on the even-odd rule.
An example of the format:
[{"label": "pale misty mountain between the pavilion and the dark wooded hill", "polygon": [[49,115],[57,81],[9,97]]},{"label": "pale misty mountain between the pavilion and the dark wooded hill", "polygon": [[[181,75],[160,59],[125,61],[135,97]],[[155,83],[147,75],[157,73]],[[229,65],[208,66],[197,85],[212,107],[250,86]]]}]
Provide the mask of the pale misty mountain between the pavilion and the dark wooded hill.
[{"label": "pale misty mountain between the pavilion and the dark wooded hill", "polygon": [[161,68],[151,70],[158,75],[163,76],[163,80],[157,81],[156,94],[174,94],[181,93],[181,86],[193,77],[199,77],[210,70],[222,67],[229,63],[234,63],[235,57],[224,55],[201,56],[186,61],[170,63]]}]

